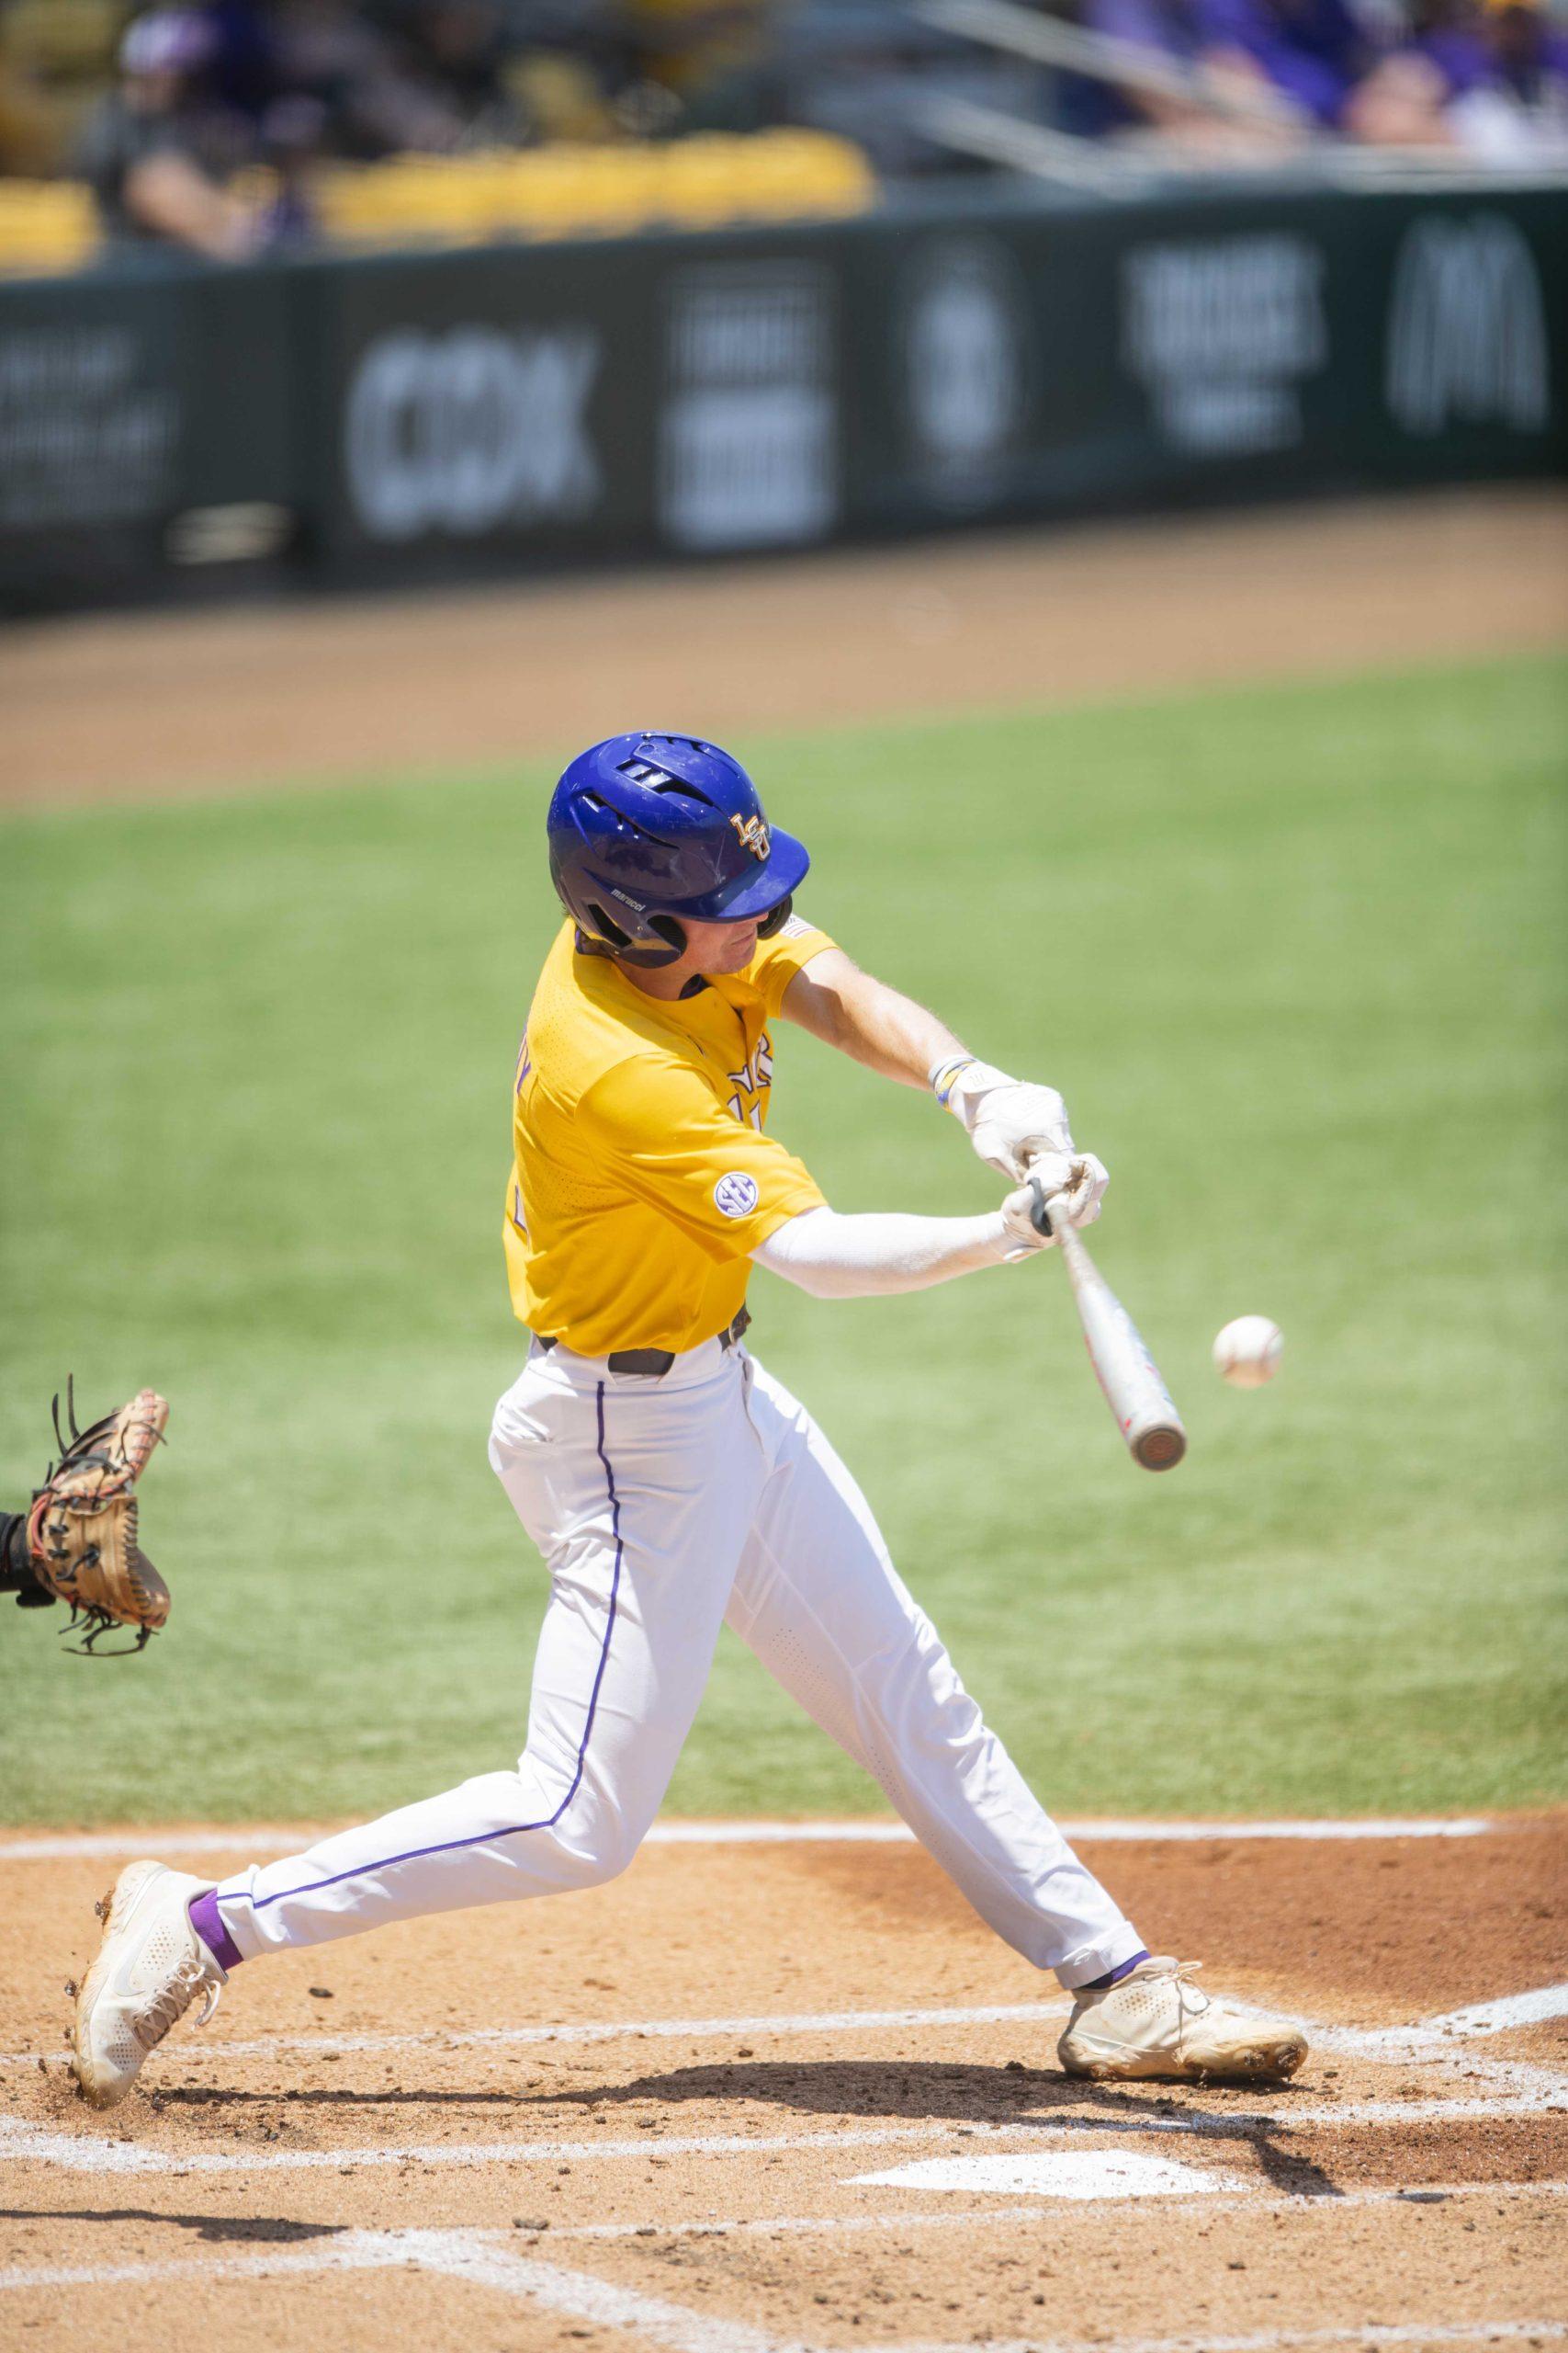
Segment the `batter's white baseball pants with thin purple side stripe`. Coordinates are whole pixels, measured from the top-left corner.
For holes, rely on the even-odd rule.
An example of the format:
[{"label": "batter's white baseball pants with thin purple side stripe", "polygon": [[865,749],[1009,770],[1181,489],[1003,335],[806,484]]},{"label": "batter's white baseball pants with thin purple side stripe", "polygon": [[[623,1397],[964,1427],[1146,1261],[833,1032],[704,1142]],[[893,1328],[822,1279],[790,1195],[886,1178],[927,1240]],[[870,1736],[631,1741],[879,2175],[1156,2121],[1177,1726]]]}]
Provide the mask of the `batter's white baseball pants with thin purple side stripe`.
[{"label": "batter's white baseball pants with thin purple side stripe", "polygon": [[743,1348],[649,1379],[536,1344],[489,1459],[550,1567],[517,1772],[223,1880],[247,1960],[625,1871],[722,1621],[1018,1953],[1081,1986],[1143,1951],[987,1732],[849,1471]]}]

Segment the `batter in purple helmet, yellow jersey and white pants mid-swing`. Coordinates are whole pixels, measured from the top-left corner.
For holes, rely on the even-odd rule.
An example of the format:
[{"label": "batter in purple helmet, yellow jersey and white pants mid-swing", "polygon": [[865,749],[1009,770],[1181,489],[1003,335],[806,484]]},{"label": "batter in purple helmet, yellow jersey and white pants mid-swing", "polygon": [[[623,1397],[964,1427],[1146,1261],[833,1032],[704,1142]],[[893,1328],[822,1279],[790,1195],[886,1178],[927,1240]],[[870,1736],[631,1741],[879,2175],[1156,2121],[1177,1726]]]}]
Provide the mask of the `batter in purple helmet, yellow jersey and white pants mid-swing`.
[{"label": "batter in purple helmet, yellow jersey and white pants mid-swing", "polygon": [[[745,1346],[766,1266],[813,1297],[922,1289],[1048,1247],[1025,1169],[1100,1212],[1063,1099],[978,1061],[792,913],[806,852],[715,744],[623,734],[559,779],[567,920],[512,1085],[505,1259],[529,1327],[489,1459],[550,1569],[527,1746],[306,1854],[221,1880],[132,1864],[78,1998],[75,2075],[108,2108],[242,1962],[386,1920],[592,1887],[654,1821],[719,1626],[884,1788],[1018,1953],[1074,1995],[1072,2073],[1288,2075],[1293,2026],[1157,1960],[1041,1812],[959,1682],[827,1438]],[[931,1087],[1009,1179],[985,1217],[846,1217],[769,1134],[797,1024]],[[1006,1280],[999,1275],[997,1280]],[[961,1501],[954,1499],[961,1537]]]}]

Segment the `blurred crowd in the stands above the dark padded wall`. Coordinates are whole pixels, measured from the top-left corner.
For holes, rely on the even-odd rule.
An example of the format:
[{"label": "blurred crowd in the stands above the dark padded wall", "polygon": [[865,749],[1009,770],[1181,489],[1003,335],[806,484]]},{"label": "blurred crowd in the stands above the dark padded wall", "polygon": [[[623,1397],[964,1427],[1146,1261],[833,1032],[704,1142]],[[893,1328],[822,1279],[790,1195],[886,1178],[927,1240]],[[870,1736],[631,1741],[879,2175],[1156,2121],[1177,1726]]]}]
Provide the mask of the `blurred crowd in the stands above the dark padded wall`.
[{"label": "blurred crowd in the stands above the dark padded wall", "polygon": [[68,186],[94,252],[331,240],[355,174],[386,193],[400,160],[705,136],[733,169],[780,129],[853,151],[863,179],[827,172],[839,209],[933,172],[1072,179],[1074,158],[1561,167],[1568,33],[1542,0],[0,0],[0,212],[5,181],[14,202]]}]

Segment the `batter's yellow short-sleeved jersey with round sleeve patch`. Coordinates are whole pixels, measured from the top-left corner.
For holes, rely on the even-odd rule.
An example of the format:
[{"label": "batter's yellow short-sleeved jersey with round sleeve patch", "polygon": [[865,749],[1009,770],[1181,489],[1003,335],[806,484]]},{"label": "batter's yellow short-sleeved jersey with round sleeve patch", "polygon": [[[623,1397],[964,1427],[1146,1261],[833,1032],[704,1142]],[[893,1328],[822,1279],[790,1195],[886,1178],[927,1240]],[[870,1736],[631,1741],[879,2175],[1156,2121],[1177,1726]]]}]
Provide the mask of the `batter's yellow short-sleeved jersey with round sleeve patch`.
[{"label": "batter's yellow short-sleeved jersey with round sleeve patch", "polygon": [[696,1348],[745,1301],[750,1252],[823,1195],[766,1134],[778,1014],[832,941],[797,915],[745,972],[649,998],[564,922],[512,1087],[512,1311],[578,1355]]}]

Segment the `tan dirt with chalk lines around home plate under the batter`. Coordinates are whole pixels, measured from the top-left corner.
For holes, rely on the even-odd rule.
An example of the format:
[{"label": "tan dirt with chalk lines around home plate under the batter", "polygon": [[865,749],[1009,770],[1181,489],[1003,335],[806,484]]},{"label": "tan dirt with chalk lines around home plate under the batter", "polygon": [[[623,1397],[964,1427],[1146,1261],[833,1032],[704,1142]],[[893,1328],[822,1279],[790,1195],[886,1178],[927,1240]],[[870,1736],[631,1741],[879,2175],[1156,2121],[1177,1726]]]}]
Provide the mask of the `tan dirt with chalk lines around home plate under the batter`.
[{"label": "tan dirt with chalk lines around home plate under the batter", "polygon": [[[1366,2031],[1566,1974],[1568,1817],[1084,1852],[1161,1948],[1314,2021],[1293,2085],[1070,2082],[1053,1981],[912,1845],[670,1845],[592,1894],[252,1962],[94,2115],[61,1979],[118,1864],[5,1859],[0,2332],[127,2353],[1563,2334],[1568,2021]],[[898,2179],[933,2160],[945,2186]]]}]

